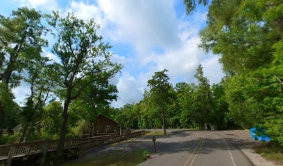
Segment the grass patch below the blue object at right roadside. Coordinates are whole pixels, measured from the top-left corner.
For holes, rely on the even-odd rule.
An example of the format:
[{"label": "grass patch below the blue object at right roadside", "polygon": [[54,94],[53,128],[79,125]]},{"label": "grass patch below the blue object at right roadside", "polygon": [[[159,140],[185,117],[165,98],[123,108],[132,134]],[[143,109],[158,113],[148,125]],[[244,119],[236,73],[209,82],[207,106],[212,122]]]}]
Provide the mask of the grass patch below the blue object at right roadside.
[{"label": "grass patch below the blue object at right roadside", "polygon": [[266,158],[273,160],[277,164],[283,164],[283,146],[275,142],[266,142],[254,148],[255,151]]}]

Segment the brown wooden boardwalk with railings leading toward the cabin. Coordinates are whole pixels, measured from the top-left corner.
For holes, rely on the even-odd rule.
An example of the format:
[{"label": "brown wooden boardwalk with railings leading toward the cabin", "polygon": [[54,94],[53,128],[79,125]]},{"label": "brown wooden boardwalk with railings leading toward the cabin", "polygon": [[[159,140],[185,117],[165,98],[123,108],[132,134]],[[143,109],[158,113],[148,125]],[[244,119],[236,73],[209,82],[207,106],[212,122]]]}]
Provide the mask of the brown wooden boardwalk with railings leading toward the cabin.
[{"label": "brown wooden boardwalk with railings leading toward the cabin", "polygon": [[[126,140],[135,136],[144,135],[145,131],[137,131],[134,133],[126,133],[122,136],[97,136],[92,138],[82,139],[69,139],[65,140],[64,149],[78,149],[78,151],[89,149],[92,147],[98,147],[112,142],[120,140]],[[0,145],[0,164],[1,162],[7,166],[10,166],[13,158],[24,158],[35,154],[42,154],[41,165],[44,165],[44,159],[47,152],[57,151],[58,140],[50,141],[38,141],[38,142],[26,142],[17,143],[12,145]]]}]

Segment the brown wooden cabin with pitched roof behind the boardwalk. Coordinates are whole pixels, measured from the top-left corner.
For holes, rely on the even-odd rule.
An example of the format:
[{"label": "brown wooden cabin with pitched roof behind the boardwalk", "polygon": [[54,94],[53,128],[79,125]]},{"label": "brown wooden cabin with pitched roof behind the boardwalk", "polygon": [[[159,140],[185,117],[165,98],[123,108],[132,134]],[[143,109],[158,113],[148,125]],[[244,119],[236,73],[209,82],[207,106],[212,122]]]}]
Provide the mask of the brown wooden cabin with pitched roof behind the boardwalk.
[{"label": "brown wooden cabin with pitched roof behind the boardwalk", "polygon": [[96,134],[100,133],[116,133],[119,131],[119,124],[114,120],[103,116],[102,114],[96,117],[94,121],[94,132]]}]

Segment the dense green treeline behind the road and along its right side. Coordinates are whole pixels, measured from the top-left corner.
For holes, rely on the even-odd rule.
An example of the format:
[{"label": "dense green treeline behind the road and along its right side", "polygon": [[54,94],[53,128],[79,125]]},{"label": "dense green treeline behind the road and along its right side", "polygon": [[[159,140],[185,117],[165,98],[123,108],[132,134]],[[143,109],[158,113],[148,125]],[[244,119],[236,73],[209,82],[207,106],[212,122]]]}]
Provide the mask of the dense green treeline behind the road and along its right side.
[{"label": "dense green treeline behind the road and along its right side", "polygon": [[[194,0],[184,3],[188,15],[197,8]],[[122,108],[128,117],[126,125],[162,127],[165,113],[165,124],[170,128],[204,127],[204,123],[218,129],[258,126],[266,128],[268,136],[283,145],[283,1],[200,3],[208,5],[209,10],[199,47],[220,56],[225,77],[221,83],[209,86],[199,66],[195,75],[198,84],[182,82],[158,90],[153,81],[148,81],[150,91],[144,92],[144,99]],[[155,73],[153,80],[159,80],[158,75]],[[166,101],[162,101],[165,96],[156,96],[164,95],[162,91],[170,96]],[[156,104],[157,100],[163,104]]]}]

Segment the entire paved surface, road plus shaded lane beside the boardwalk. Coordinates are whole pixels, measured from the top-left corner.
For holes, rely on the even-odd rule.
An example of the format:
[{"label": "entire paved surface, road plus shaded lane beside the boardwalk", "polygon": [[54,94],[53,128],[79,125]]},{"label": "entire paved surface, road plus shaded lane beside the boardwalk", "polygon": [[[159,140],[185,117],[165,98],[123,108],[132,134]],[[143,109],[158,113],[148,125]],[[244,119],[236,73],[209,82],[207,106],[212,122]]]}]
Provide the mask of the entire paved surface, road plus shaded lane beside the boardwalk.
[{"label": "entire paved surface, road plus shaded lane beside the boardwalk", "polygon": [[[161,130],[151,130],[161,131]],[[151,153],[151,158],[139,166],[251,166],[246,156],[237,149],[254,143],[245,131],[180,131],[167,136],[156,136],[157,154],[154,153],[152,136],[141,136],[134,140],[116,146],[103,145],[85,151],[85,156],[70,163],[92,161],[92,158],[102,151],[134,151],[145,149]],[[178,132],[174,132],[178,131]],[[130,157],[130,156],[129,156]],[[69,165],[70,163],[66,163]]]}]

